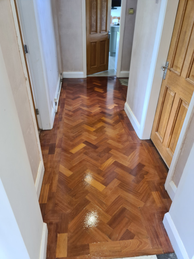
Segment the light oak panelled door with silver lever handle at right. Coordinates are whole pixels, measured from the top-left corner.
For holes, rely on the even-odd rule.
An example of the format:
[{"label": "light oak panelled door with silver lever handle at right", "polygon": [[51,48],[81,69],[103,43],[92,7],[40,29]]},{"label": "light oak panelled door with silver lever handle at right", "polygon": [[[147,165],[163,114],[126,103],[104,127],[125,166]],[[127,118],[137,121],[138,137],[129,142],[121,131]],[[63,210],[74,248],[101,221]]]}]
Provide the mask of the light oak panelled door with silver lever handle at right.
[{"label": "light oak panelled door with silver lever handle at right", "polygon": [[170,167],[194,91],[194,0],[180,0],[151,140]]}]

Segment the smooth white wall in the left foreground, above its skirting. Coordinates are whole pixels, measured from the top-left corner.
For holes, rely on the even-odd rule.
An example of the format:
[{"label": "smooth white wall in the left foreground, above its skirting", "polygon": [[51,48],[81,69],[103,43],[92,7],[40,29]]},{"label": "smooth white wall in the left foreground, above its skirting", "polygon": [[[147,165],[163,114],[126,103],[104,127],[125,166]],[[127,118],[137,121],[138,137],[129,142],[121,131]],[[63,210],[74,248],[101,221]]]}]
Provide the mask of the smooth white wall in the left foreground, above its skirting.
[{"label": "smooth white wall in the left foreground, above its skirting", "polygon": [[[7,0],[2,2],[7,2]],[[15,82],[9,81],[9,72],[0,48],[0,96],[3,96],[0,118],[4,123],[0,129],[0,184],[2,182],[4,188],[4,190],[1,189],[1,194],[3,194],[1,209],[6,209],[1,214],[0,224],[5,223],[7,234],[11,233],[9,242],[3,246],[3,253],[8,254],[10,259],[37,259],[40,257],[41,251],[43,219],[11,87],[11,84],[18,87],[19,85],[17,78]],[[9,224],[6,221],[5,213],[8,213]],[[5,230],[5,226],[2,226],[1,229]],[[16,238],[14,242],[16,241],[20,247],[17,248],[15,244],[11,243],[12,237]],[[0,240],[5,241],[5,238],[8,238],[7,235],[4,236],[1,231]],[[19,254],[13,255],[13,252],[18,253],[17,249]]]}]

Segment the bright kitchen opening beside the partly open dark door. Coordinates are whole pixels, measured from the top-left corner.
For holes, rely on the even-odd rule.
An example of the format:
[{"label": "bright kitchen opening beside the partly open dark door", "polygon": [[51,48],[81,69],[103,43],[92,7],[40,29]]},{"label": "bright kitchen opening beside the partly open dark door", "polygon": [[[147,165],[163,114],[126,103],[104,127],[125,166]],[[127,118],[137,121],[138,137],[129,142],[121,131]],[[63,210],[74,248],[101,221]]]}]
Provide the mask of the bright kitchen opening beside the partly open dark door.
[{"label": "bright kitchen opening beside the partly open dark door", "polygon": [[[95,73],[88,73],[87,76],[116,76],[117,60],[119,55],[119,41],[120,41],[120,18],[121,18],[121,1],[112,0],[111,12],[107,12],[107,29],[108,29],[108,66],[101,71]],[[102,15],[102,14],[101,14]],[[88,46],[87,46],[88,47]],[[91,49],[92,51],[92,49]],[[93,56],[93,54],[91,54]],[[120,57],[121,58],[121,57]]]}]

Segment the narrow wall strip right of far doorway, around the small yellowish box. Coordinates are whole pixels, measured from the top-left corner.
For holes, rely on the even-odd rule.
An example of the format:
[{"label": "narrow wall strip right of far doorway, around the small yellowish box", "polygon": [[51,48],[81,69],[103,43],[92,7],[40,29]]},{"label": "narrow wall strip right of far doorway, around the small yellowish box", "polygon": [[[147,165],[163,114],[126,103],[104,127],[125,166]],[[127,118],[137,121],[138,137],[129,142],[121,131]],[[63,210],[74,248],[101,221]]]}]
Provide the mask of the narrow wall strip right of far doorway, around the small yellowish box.
[{"label": "narrow wall strip right of far doorway, around the small yellowish box", "polygon": [[[134,8],[134,14],[129,14],[129,8]],[[136,9],[137,9],[137,0],[127,0],[121,71],[129,71],[130,69]]]}]

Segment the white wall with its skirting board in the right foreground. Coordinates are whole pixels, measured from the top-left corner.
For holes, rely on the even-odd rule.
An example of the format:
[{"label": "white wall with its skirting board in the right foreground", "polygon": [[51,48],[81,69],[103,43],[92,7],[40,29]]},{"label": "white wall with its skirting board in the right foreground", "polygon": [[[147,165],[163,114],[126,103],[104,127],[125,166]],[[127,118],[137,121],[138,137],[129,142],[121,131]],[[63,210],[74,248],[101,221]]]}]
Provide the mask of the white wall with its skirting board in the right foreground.
[{"label": "white wall with its skirting board in the right foreground", "polygon": [[[194,118],[192,121],[194,124]],[[194,256],[194,144],[183,170],[169,213],[165,214],[164,226],[178,259]]]}]

